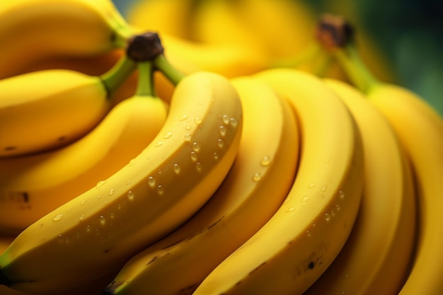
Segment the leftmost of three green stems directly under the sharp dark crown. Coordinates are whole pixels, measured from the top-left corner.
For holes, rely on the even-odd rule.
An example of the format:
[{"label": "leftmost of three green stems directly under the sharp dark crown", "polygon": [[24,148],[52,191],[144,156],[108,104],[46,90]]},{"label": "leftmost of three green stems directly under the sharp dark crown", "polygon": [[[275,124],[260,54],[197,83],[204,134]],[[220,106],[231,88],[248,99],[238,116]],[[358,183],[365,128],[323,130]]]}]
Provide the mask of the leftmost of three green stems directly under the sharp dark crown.
[{"label": "leftmost of three green stems directly under the sharp dark crown", "polygon": [[109,71],[100,76],[110,99],[117,88],[134,72],[137,64],[126,55],[123,56]]}]

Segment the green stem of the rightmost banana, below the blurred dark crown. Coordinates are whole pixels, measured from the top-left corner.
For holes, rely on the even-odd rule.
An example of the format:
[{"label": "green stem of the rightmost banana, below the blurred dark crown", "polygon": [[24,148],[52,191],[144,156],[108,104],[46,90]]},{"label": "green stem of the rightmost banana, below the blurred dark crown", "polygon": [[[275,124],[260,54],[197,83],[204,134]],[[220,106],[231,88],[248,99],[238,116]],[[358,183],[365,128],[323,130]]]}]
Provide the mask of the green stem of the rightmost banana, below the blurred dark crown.
[{"label": "green stem of the rightmost banana, below the blurred dark crown", "polygon": [[343,47],[337,47],[333,50],[333,55],[343,66],[352,83],[363,93],[368,93],[373,86],[380,83],[359,57],[355,45],[351,42]]}]

